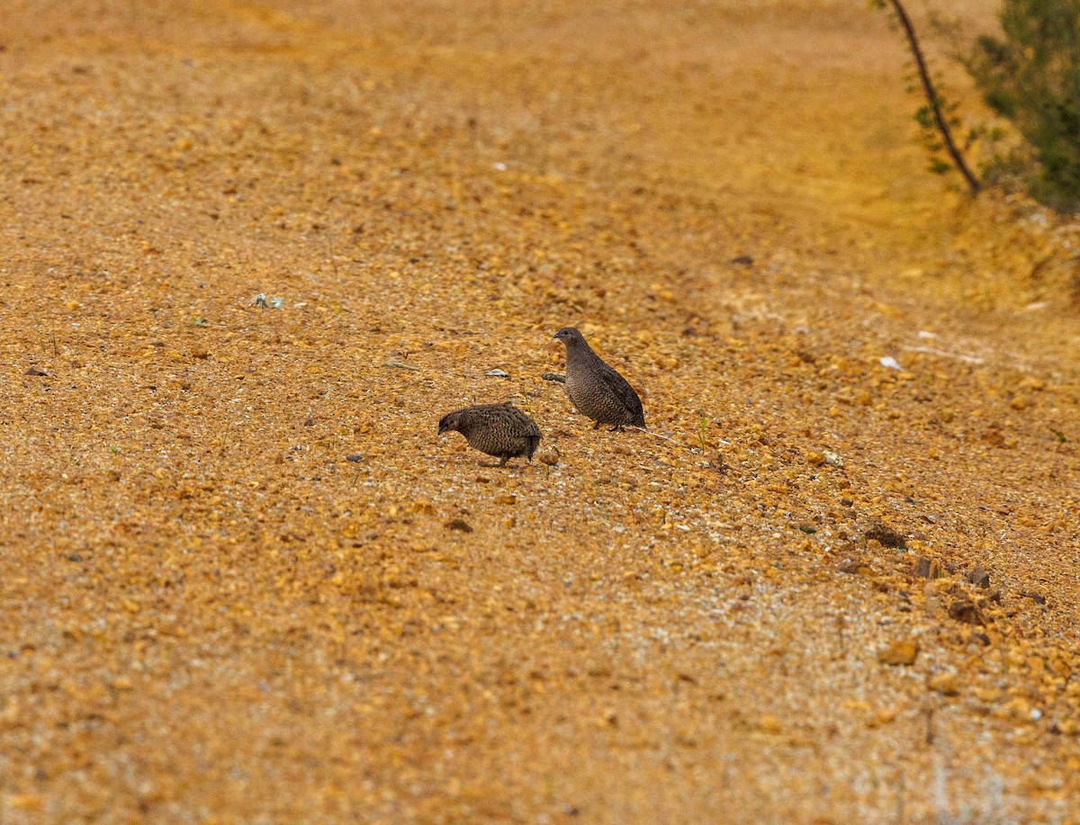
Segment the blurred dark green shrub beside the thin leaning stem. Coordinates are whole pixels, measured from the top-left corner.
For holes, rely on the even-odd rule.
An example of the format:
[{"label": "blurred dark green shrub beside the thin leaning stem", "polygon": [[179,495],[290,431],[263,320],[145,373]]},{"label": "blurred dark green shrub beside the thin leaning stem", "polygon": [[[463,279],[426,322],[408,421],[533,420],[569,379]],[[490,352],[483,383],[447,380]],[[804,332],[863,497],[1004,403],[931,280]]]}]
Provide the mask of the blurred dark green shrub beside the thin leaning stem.
[{"label": "blurred dark green shrub beside the thin leaning stem", "polygon": [[[966,60],[987,105],[1012,121],[1038,172],[1031,193],[1080,207],[1080,0],[1003,0],[1002,38],[984,35]],[[998,168],[1009,165],[999,159]]]}]

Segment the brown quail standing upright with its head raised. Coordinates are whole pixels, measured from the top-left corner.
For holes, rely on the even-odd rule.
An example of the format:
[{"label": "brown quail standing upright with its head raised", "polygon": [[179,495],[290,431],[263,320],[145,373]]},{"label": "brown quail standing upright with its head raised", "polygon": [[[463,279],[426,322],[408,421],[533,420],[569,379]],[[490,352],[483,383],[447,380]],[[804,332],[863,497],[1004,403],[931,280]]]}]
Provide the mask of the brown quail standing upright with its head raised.
[{"label": "brown quail standing upright with its head raised", "polygon": [[[566,391],[578,410],[600,424],[621,430],[624,424],[645,427],[645,410],[634,388],[613,367],[593,352],[572,326],[564,326],[555,338],[566,344]],[[593,428],[595,429],[595,428]]]}]

